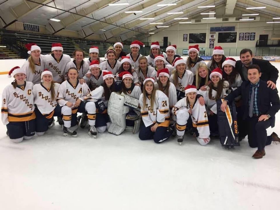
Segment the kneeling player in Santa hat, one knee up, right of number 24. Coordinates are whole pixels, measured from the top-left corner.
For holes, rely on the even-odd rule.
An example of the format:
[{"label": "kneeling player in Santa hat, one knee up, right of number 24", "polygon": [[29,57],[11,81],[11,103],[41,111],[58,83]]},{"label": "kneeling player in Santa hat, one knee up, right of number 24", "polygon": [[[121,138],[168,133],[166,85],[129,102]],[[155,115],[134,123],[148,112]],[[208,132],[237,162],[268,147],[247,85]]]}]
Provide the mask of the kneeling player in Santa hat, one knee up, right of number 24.
[{"label": "kneeling player in Santa hat, one knee up, right of number 24", "polygon": [[201,145],[207,145],[210,141],[210,131],[206,108],[199,104],[194,85],[188,85],[185,94],[186,97],[178,101],[173,108],[173,113],[176,115],[178,142],[180,145],[183,142],[187,121],[191,117],[195,128],[193,135]]}]

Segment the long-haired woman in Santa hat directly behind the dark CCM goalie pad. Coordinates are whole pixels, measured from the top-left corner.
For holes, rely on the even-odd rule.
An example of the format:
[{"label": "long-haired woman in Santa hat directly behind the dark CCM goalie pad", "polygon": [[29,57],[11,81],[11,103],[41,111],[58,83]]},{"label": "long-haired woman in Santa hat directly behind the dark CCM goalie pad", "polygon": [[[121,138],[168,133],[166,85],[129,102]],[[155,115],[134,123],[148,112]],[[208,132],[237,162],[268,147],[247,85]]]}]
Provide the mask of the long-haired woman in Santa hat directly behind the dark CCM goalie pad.
[{"label": "long-haired woman in Santa hat directly behind the dark CCM goalie pad", "polygon": [[211,72],[210,78],[211,83],[206,86],[206,91],[199,90],[199,94],[201,94],[205,100],[210,131],[212,135],[218,136],[219,127],[216,101],[227,96],[229,82],[222,79],[222,71],[219,68],[216,68]]}]

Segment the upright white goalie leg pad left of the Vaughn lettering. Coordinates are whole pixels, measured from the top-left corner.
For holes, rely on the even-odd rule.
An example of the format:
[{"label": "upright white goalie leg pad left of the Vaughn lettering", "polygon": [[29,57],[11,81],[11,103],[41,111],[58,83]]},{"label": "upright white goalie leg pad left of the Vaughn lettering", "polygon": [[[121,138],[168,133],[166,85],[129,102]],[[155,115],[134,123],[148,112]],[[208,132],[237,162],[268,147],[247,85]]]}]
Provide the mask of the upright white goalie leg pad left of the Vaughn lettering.
[{"label": "upright white goalie leg pad left of the Vaughn lettering", "polygon": [[120,135],[125,130],[125,117],[129,108],[124,106],[125,97],[118,93],[111,93],[108,102],[108,115],[111,119],[111,125],[108,132],[115,135]]}]

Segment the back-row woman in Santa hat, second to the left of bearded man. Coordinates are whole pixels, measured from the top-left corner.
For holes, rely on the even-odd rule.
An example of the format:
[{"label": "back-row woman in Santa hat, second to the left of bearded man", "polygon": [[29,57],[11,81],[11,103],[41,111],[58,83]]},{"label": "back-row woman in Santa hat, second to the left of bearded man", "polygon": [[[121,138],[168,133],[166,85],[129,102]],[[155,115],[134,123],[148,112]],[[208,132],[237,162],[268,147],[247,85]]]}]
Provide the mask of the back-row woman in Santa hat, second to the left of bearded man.
[{"label": "back-row woman in Santa hat, second to the left of bearded man", "polygon": [[[195,74],[198,65],[200,63],[205,63],[203,59],[201,59],[199,55],[199,46],[189,46],[189,57],[187,59],[187,69],[191,71],[193,74]],[[206,63],[205,63],[206,64]]]}]

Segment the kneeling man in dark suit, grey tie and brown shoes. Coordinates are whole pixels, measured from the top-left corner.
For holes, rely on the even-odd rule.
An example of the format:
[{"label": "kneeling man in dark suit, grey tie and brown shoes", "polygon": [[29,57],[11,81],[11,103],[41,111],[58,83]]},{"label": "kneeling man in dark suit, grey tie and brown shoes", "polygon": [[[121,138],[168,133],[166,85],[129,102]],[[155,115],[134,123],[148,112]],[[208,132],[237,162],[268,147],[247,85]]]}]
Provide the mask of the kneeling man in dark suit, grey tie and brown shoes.
[{"label": "kneeling man in dark suit, grey tie and brown shoes", "polygon": [[258,147],[252,156],[262,158],[265,155],[265,145],[271,141],[280,142],[276,133],[267,136],[266,129],[274,127],[275,114],[280,109],[279,95],[276,90],[267,87],[267,83],[260,79],[261,70],[258,65],[248,67],[248,80],[243,81],[240,87],[225,97],[221,110],[225,112],[227,103],[241,95],[243,99],[243,119],[247,120],[249,129],[248,142],[250,147]]}]

